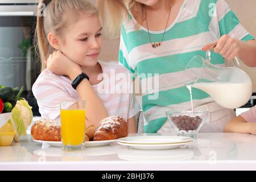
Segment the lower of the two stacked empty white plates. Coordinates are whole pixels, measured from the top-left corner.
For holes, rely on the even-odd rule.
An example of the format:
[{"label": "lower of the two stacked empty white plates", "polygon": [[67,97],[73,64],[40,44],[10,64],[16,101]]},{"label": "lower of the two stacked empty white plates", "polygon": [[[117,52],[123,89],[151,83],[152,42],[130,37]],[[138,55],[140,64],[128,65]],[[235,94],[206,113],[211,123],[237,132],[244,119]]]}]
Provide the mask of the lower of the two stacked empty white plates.
[{"label": "lower of the two stacked empty white plates", "polygon": [[122,142],[117,142],[117,143],[123,146],[128,146],[128,147],[140,149],[140,150],[167,150],[167,149],[181,147],[184,144],[189,144],[192,142],[193,140],[190,142],[172,143],[172,144],[131,144],[131,143],[122,143]]}]

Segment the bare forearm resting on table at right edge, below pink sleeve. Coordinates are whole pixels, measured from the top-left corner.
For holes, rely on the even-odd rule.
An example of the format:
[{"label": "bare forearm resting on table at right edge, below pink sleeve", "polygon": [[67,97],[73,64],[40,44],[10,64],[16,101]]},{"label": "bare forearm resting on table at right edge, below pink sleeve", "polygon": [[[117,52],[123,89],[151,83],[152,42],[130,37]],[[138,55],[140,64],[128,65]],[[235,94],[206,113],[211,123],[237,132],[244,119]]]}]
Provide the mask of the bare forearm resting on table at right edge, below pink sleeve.
[{"label": "bare forearm resting on table at right edge, below pink sleeve", "polygon": [[256,123],[248,123],[240,115],[229,121],[224,127],[225,133],[256,134]]}]

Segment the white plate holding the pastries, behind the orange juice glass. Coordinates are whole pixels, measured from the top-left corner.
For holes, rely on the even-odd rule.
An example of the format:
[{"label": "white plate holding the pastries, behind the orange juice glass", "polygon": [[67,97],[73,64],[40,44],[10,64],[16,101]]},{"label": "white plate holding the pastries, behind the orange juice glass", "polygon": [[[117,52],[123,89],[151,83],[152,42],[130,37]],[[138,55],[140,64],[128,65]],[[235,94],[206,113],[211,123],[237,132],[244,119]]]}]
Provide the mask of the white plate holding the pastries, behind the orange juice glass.
[{"label": "white plate holding the pastries, behind the orange juice glass", "polygon": [[[35,140],[33,139],[34,142],[38,142],[38,143],[47,143],[50,146],[53,147],[61,147],[62,143],[61,142],[52,142],[52,141],[44,141],[44,140]],[[100,147],[100,146],[106,146],[110,143],[113,143],[117,141],[117,139],[115,140],[101,140],[101,141],[90,141],[90,142],[84,142],[84,146],[85,147]]]}]

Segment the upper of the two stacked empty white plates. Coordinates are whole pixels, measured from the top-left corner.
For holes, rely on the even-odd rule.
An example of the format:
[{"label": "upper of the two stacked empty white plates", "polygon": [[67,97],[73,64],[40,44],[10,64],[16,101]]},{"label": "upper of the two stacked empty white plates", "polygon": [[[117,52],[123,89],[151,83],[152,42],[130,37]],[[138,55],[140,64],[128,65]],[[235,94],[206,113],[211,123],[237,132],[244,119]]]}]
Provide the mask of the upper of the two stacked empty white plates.
[{"label": "upper of the two stacked empty white plates", "polygon": [[191,137],[179,137],[179,136],[139,136],[139,137],[125,137],[119,138],[119,143],[129,143],[129,144],[175,144],[191,142],[193,138]]}]

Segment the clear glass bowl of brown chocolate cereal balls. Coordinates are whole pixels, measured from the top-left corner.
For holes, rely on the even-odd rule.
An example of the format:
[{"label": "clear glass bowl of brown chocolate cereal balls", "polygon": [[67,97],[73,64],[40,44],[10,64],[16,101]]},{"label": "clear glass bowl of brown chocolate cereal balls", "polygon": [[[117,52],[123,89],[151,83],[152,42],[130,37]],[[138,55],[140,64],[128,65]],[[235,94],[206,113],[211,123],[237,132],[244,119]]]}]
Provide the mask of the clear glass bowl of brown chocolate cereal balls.
[{"label": "clear glass bowl of brown chocolate cereal balls", "polygon": [[166,115],[177,135],[196,139],[208,113],[208,111],[167,111]]}]

